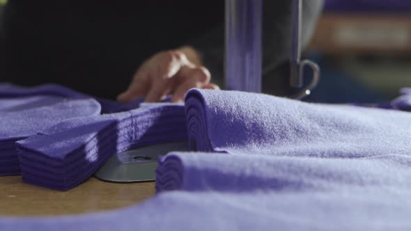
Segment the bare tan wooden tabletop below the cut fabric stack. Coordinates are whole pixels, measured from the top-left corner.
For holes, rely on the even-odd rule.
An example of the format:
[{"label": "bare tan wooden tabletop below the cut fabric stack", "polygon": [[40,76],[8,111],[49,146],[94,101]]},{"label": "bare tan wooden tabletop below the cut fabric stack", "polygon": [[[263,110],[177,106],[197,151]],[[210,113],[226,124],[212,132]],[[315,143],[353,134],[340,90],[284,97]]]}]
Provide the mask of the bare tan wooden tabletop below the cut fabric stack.
[{"label": "bare tan wooden tabletop below the cut fabric stack", "polygon": [[82,214],[134,205],[155,194],[155,182],[115,184],[92,177],[68,191],[22,182],[21,176],[0,177],[0,216]]}]

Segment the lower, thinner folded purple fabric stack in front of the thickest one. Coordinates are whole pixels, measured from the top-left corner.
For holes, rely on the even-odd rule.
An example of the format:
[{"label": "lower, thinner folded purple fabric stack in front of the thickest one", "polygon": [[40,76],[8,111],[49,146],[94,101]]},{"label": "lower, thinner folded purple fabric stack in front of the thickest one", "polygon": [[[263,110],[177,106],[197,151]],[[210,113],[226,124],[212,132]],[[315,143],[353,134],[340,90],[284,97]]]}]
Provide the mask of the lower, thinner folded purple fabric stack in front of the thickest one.
[{"label": "lower, thinner folded purple fabric stack in front of the thickest one", "polygon": [[410,155],[355,159],[170,153],[159,161],[157,192],[348,191],[411,189]]}]

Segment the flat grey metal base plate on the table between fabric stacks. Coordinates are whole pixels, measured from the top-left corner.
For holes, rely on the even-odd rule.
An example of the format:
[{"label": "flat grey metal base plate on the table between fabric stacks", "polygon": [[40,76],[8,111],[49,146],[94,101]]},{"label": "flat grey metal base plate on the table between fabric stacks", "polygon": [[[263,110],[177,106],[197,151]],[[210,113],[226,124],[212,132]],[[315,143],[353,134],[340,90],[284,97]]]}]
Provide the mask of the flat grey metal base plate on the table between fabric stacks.
[{"label": "flat grey metal base plate on the table between fabric stacks", "polygon": [[115,154],[94,176],[108,182],[146,182],[155,180],[160,156],[173,151],[188,151],[188,142],[161,143]]}]

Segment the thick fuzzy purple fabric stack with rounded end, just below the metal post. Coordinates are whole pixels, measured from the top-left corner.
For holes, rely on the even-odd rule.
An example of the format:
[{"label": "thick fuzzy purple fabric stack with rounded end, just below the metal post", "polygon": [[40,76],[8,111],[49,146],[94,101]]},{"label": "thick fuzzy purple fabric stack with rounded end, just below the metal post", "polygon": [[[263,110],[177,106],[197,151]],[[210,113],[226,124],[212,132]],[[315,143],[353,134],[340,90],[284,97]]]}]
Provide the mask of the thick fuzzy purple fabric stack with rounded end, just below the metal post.
[{"label": "thick fuzzy purple fabric stack with rounded end, just below the metal post", "polygon": [[411,153],[411,113],[309,104],[236,91],[190,90],[192,150],[329,158]]}]

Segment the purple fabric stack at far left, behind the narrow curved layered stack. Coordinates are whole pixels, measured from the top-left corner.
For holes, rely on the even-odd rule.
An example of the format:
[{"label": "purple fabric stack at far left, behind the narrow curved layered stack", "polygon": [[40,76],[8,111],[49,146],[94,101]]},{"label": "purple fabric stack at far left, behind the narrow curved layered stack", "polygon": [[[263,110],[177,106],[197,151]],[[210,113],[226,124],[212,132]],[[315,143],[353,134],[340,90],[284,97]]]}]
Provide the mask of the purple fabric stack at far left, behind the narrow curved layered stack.
[{"label": "purple fabric stack at far left, behind the narrow curved layered stack", "polygon": [[93,99],[56,84],[25,88],[1,83],[0,176],[20,174],[16,141],[64,120],[129,111],[138,108],[141,102],[143,99],[129,104]]}]

